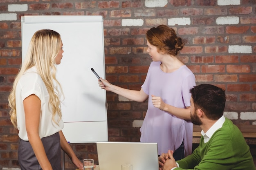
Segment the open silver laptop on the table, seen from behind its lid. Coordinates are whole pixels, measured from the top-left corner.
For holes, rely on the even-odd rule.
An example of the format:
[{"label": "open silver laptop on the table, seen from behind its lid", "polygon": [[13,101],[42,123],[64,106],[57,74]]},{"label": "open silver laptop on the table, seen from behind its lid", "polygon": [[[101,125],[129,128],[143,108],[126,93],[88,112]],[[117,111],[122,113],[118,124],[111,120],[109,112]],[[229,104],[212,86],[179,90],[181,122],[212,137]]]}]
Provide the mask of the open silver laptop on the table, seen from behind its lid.
[{"label": "open silver laptop on the table, seen from behind its lid", "polygon": [[97,142],[100,170],[121,170],[131,163],[132,170],[158,170],[157,143]]}]

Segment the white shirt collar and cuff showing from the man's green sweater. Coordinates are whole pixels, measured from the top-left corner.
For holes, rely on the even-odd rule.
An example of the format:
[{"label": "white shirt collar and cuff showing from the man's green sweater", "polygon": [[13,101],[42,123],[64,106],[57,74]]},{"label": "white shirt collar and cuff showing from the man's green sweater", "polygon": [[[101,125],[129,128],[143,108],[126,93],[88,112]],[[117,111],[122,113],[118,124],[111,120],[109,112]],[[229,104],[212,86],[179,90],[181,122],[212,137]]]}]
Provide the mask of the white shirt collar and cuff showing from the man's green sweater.
[{"label": "white shirt collar and cuff showing from the man's green sweater", "polygon": [[[206,133],[204,133],[203,130],[201,131],[201,134],[202,134],[202,136],[204,137],[204,144],[207,143],[207,142],[211,139],[211,137],[212,137],[212,135],[213,135],[214,132],[216,132],[219,128],[222,127],[222,125],[224,124],[224,122],[225,122],[225,117],[224,117],[224,115],[222,115],[222,117],[220,117],[220,119],[218,119],[218,120],[213,124],[213,126],[211,126],[211,128],[209,128],[209,130],[207,130]],[[179,166],[179,163],[176,162],[176,164],[177,164],[177,167],[180,167],[180,166]],[[177,168],[177,167],[174,167],[174,168],[172,168],[171,170],[174,170],[174,169]]]}]

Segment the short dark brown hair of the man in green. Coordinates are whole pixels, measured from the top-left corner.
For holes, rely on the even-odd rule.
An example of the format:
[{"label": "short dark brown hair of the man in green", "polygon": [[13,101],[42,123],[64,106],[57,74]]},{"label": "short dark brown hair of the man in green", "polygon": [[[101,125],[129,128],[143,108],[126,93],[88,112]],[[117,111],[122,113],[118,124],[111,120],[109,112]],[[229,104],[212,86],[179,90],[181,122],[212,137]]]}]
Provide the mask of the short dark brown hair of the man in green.
[{"label": "short dark brown hair of the man in green", "polygon": [[211,84],[200,84],[190,90],[195,108],[200,108],[212,120],[219,119],[224,112],[226,95],[222,88]]}]

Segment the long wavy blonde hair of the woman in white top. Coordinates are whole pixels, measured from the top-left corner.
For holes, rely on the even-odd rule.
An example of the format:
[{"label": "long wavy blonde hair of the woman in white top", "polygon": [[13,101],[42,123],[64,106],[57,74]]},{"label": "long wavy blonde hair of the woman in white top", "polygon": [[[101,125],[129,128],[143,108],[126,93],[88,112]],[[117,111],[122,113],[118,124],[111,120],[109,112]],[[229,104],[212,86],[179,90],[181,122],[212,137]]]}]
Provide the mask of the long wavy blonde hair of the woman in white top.
[{"label": "long wavy blonde hair of the woman in white top", "polygon": [[[52,120],[58,124],[61,119],[61,101],[60,94],[62,93],[61,85],[56,79],[56,64],[55,57],[61,49],[62,41],[59,33],[49,29],[36,31],[31,38],[29,49],[22,63],[20,71],[13,82],[8,97],[11,115],[11,122],[17,128],[17,113],[16,113],[16,86],[25,71],[32,66],[36,66],[38,74],[43,79],[47,91],[49,93],[49,108],[52,108]],[[60,93],[61,92],[61,93]],[[58,121],[54,120],[54,116],[58,114]]]}]

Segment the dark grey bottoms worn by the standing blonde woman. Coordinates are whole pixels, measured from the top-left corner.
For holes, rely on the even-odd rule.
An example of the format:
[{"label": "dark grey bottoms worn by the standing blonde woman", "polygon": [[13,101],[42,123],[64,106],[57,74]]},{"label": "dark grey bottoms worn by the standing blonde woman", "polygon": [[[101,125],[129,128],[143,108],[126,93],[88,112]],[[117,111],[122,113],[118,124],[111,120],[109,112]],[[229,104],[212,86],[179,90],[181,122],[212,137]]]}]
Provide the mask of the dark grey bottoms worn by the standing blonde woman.
[{"label": "dark grey bottoms worn by the standing blonde woman", "polygon": [[[61,143],[59,133],[57,132],[54,135],[43,137],[41,140],[52,169],[61,170]],[[18,161],[21,170],[42,170],[29,141],[20,139]]]}]

